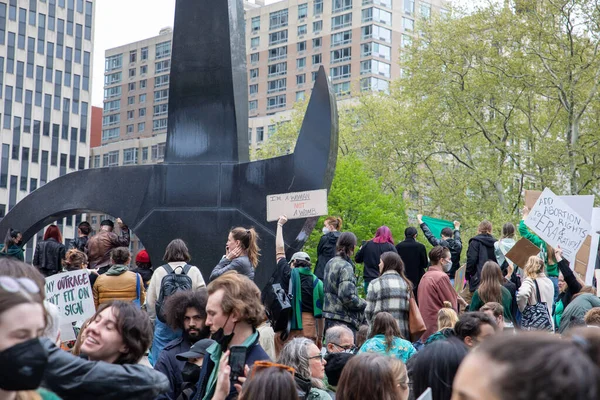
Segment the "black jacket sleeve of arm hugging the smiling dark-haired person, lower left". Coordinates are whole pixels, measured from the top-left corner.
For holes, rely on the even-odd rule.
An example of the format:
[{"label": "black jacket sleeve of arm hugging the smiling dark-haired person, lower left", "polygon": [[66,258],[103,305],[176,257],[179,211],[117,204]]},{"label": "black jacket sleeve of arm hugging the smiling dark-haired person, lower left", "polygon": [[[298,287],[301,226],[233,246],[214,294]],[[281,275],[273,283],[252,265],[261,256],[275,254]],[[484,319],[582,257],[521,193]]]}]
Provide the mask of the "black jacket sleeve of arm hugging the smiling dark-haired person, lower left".
[{"label": "black jacket sleeve of arm hugging the smiling dark-haired person, lower left", "polygon": [[63,400],[146,400],[169,389],[164,374],[141,364],[88,361],[40,339],[48,352],[42,387]]}]

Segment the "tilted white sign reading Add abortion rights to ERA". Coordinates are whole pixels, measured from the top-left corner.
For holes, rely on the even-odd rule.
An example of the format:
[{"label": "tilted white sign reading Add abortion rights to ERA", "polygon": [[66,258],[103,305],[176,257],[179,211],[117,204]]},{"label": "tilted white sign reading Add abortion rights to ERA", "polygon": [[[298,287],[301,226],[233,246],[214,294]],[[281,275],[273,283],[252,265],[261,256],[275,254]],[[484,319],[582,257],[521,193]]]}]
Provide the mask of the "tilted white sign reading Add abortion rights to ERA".
[{"label": "tilted white sign reading Add abortion rights to ERA", "polygon": [[575,262],[577,251],[592,229],[586,220],[548,188],[535,202],[525,225],[552,247],[560,246],[570,263]]}]

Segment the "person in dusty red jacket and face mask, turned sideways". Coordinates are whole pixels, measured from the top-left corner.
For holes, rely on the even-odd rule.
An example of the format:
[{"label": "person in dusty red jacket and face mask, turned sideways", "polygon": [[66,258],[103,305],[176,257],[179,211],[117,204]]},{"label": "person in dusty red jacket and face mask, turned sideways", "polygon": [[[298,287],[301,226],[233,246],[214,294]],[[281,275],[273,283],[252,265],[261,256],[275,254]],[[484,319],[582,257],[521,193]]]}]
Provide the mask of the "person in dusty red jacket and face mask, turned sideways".
[{"label": "person in dusty red jacket and face mask, turned sideways", "polygon": [[[421,278],[417,296],[419,311],[427,327],[421,337],[423,342],[437,331],[437,314],[444,307],[444,302],[449,301],[452,308],[458,311],[457,304],[460,299],[446,274],[452,268],[450,250],[446,247],[436,246],[429,252],[429,260],[431,266]],[[466,306],[464,300],[460,299],[460,303]]]}]

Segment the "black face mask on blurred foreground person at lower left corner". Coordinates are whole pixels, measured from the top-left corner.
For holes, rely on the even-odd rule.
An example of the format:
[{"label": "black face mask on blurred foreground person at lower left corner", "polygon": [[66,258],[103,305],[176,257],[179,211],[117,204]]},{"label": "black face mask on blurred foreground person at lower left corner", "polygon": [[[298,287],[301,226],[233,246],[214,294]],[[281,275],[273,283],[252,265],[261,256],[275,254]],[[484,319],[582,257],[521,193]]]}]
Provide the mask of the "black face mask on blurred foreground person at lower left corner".
[{"label": "black face mask on blurred foreground person at lower left corner", "polygon": [[38,338],[16,344],[0,352],[0,389],[7,391],[34,390],[42,383],[48,364],[48,352]]}]

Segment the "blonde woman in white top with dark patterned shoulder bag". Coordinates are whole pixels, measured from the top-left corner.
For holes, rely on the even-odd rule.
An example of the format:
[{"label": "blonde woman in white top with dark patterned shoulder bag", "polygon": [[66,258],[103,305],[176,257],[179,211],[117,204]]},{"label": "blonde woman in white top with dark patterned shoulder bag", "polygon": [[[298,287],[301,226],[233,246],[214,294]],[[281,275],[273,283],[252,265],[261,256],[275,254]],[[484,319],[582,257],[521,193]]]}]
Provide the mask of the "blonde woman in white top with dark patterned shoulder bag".
[{"label": "blonde woman in white top with dark patterned shoulder bag", "polygon": [[[545,303],[552,329],[554,329],[554,321],[550,317],[552,315],[552,308],[554,307],[554,284],[546,276],[544,268],[544,260],[540,257],[529,257],[524,268],[525,279],[523,279],[523,283],[517,293],[517,304],[519,310],[523,312],[528,305],[535,306],[540,302]],[[526,316],[523,315],[523,329],[532,329],[527,326],[526,320]]]}]

